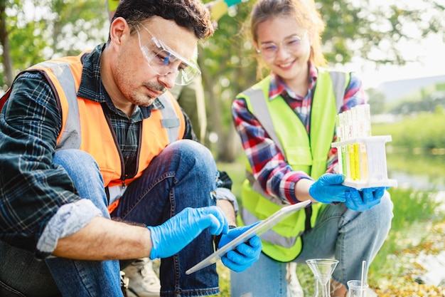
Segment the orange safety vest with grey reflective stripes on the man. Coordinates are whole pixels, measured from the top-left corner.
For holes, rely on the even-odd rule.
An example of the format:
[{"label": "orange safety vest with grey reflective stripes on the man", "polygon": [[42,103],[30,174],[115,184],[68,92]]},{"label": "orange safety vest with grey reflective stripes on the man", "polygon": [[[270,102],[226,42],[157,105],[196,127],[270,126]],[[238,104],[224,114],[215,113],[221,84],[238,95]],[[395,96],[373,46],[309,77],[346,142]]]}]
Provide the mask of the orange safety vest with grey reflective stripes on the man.
[{"label": "orange safety vest with grey reflective stripes on the man", "polygon": [[[26,71],[40,71],[48,79],[60,106],[62,129],[58,135],[56,150],[79,149],[94,157],[104,179],[104,187],[128,185],[141,176],[151,160],[171,142],[183,138],[185,120],[181,108],[167,92],[158,99],[163,108],[151,110],[151,115],[139,124],[139,150],[136,174],[125,172],[122,152],[109,118],[101,103],[77,96],[82,78],[82,56],[65,57],[45,61]],[[13,84],[14,86],[14,84]],[[2,107],[11,89],[1,98]],[[109,212],[117,207],[109,206]]]}]

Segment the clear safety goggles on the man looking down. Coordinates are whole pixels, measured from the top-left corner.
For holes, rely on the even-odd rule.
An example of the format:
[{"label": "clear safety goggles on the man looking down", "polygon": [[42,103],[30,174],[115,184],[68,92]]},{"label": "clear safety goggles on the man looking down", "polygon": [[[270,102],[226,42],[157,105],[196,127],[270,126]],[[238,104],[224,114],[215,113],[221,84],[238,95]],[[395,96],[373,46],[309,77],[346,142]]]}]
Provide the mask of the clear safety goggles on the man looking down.
[{"label": "clear safety goggles on the man looking down", "polygon": [[[139,26],[144,28],[150,35],[151,39],[142,45]],[[142,24],[137,26],[137,35],[139,38],[139,48],[141,48],[149,67],[158,75],[176,74],[176,85],[188,85],[191,81],[200,75],[198,64],[184,58],[180,54],[168,48],[166,44],[145,28]],[[197,52],[195,52],[197,54]]]}]

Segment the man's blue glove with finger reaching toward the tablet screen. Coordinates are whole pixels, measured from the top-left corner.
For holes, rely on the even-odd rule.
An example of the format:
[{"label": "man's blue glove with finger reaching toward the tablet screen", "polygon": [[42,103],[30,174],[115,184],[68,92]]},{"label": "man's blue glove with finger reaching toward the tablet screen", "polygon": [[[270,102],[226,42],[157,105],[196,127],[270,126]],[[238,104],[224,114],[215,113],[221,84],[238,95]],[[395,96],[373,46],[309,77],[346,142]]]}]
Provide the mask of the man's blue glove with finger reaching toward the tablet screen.
[{"label": "man's blue glove with finger reaching toward the tablet screen", "polygon": [[186,208],[159,226],[147,226],[151,231],[150,259],[167,258],[181,251],[204,229],[210,234],[226,234],[227,218],[219,207]]}]

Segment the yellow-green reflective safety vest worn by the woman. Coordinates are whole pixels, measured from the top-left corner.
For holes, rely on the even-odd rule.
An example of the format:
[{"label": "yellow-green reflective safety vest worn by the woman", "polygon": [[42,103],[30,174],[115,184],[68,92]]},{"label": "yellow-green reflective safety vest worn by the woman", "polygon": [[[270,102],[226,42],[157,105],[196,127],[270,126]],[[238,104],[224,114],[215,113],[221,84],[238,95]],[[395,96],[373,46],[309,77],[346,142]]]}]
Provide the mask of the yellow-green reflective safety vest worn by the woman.
[{"label": "yellow-green reflective safety vest worn by the woman", "polygon": [[[246,100],[247,108],[274,140],[286,162],[295,171],[304,171],[313,179],[326,172],[336,115],[343,105],[349,73],[329,72],[318,68],[318,78],[311,105],[310,135],[306,127],[282,96],[269,100],[270,76],[237,96]],[[248,163],[248,162],[247,162]],[[242,184],[242,210],[238,223],[253,224],[286,206],[281,199],[264,192],[252,175],[250,164]],[[311,229],[326,204],[311,204],[292,214],[262,235],[262,251],[282,262],[294,260],[301,252],[301,234]]]}]

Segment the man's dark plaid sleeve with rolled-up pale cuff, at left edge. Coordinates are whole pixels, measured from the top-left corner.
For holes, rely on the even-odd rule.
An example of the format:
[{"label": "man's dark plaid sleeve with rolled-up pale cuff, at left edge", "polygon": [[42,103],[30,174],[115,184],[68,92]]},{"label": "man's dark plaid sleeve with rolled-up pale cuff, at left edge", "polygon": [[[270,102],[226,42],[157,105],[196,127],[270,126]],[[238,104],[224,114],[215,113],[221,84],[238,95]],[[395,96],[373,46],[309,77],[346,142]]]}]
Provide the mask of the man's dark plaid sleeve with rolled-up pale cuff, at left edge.
[{"label": "man's dark plaid sleeve with rolled-up pale cuff, at left edge", "polygon": [[[19,75],[0,115],[0,240],[43,254],[97,215],[68,173],[52,163],[60,128],[44,75]],[[80,222],[69,226],[80,212]]]}]

